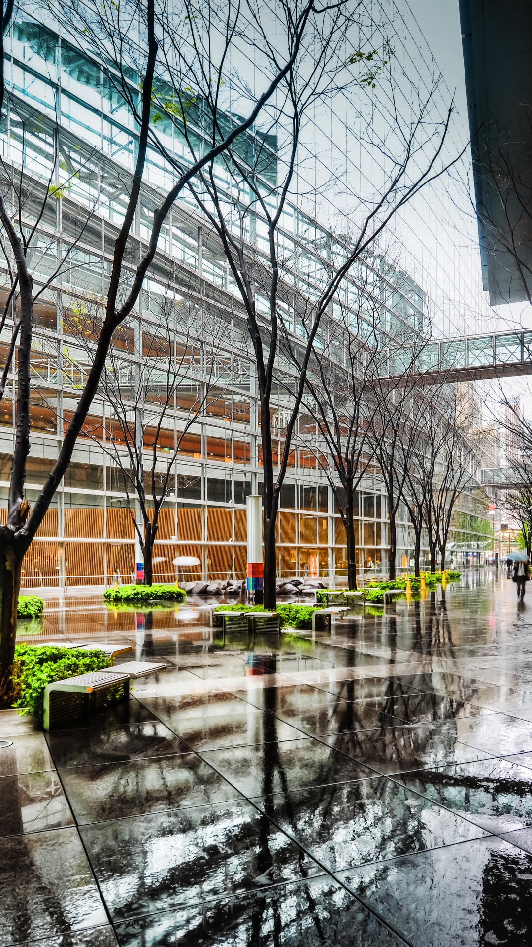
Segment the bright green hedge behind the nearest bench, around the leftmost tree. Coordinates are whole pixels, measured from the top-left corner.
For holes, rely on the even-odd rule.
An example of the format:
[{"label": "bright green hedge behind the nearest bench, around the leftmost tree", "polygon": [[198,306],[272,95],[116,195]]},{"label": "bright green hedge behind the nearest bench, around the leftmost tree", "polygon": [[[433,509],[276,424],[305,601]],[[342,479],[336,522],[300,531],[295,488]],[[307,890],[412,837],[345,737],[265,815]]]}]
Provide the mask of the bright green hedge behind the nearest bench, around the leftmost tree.
[{"label": "bright green hedge behind the nearest bench, around the leftmost tree", "polygon": [[23,707],[25,713],[43,720],[44,688],[52,681],[86,674],[90,670],[110,668],[111,661],[103,652],[78,651],[51,645],[17,645],[12,681],[17,695],[13,706]]}]

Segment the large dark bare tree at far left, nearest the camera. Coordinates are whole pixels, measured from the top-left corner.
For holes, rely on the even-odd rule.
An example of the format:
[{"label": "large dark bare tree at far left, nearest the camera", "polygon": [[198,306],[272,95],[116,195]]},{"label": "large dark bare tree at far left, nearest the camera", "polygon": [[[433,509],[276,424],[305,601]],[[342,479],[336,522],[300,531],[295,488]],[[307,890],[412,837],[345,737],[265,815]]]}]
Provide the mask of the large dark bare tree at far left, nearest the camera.
[{"label": "large dark bare tree at far left, nearest the camera", "polygon": [[[308,12],[300,25],[299,42],[303,39],[313,4],[308,5]],[[127,9],[126,9],[127,8]],[[8,4],[3,17],[4,29],[9,24],[12,6]],[[43,14],[49,17],[49,10]],[[31,266],[31,251],[38,242],[39,222],[42,219],[44,208],[51,200],[50,190],[45,188],[44,201],[41,209],[35,212],[37,224],[27,227],[24,216],[19,211],[17,191],[9,181],[9,187],[3,188],[0,193],[0,223],[2,241],[7,249],[8,270],[10,278],[9,300],[6,312],[11,302],[16,301],[16,431],[9,484],[9,511],[8,522],[0,528],[0,590],[1,590],[1,628],[0,628],[0,682],[9,681],[9,672],[12,665],[15,634],[17,600],[21,581],[21,569],[27,549],[44,520],[44,514],[49,508],[55,491],[61,483],[62,476],[71,461],[77,439],[87,418],[90,406],[98,392],[98,385],[105,368],[110,348],[113,345],[115,332],[118,327],[133,313],[145,278],[150,272],[153,259],[157,251],[157,244],[163,225],[168,217],[168,211],[184,190],[204,167],[212,167],[223,152],[230,148],[239,135],[246,133],[257,120],[265,104],[275,96],[275,90],[293,69],[297,59],[299,47],[290,48],[281,53],[275,60],[273,68],[263,83],[263,91],[253,100],[248,99],[247,115],[233,119],[224,128],[216,126],[216,134],[210,140],[203,140],[200,154],[175,167],[174,177],[168,188],[160,195],[160,204],[147,224],[148,236],[142,246],[142,253],[133,272],[125,266],[130,231],[132,230],[135,215],[139,211],[143,187],[148,175],[147,158],[149,146],[156,148],[159,139],[157,128],[154,125],[153,102],[156,97],[158,77],[166,69],[166,48],[168,36],[155,16],[154,0],[147,4],[120,5],[106,3],[103,5],[82,6],[73,3],[64,4],[59,10],[63,27],[70,23],[73,33],[79,41],[90,50],[90,54],[98,60],[98,67],[102,68],[106,81],[111,83],[116,92],[127,103],[132,121],[135,126],[135,153],[133,173],[120,172],[118,175],[127,191],[124,213],[114,244],[113,262],[106,280],[105,296],[102,299],[102,319],[94,339],[94,348],[91,363],[85,376],[84,384],[76,409],[69,421],[62,438],[59,456],[53,470],[46,478],[35,506],[29,509],[25,498],[26,461],[29,452],[29,402],[30,402],[30,363],[33,346],[33,324],[35,296],[39,291],[34,290],[34,278]],[[225,33],[222,32],[222,44],[218,51],[218,58],[211,56],[209,60],[208,81],[220,87],[225,75],[226,56],[234,37],[232,27],[234,11],[232,7],[225,10]],[[220,21],[219,21],[220,22]],[[139,23],[142,25],[140,33]],[[55,28],[55,24],[52,27]],[[195,21],[193,18],[184,18],[181,22],[181,40],[184,44],[193,46]],[[166,45],[167,46],[166,46]],[[115,67],[110,68],[115,56]],[[108,68],[109,67],[109,68]],[[4,68],[4,62],[2,63]],[[105,70],[108,70],[105,72]],[[131,76],[136,70],[140,80],[133,90]],[[87,77],[90,82],[90,78]],[[181,74],[177,83],[180,89],[186,85],[186,79]],[[139,91],[140,90],[140,91]],[[0,83],[0,91],[4,92],[0,98],[0,113],[5,114],[9,107],[9,97],[6,93],[4,77]],[[23,152],[24,153],[24,152]],[[56,166],[57,167],[57,166]],[[20,174],[20,170],[18,173]],[[53,182],[52,182],[53,183]],[[16,297],[16,300],[15,300]],[[13,349],[14,350],[14,349]],[[4,367],[3,371],[6,371]],[[9,371],[9,368],[8,368]]]}]

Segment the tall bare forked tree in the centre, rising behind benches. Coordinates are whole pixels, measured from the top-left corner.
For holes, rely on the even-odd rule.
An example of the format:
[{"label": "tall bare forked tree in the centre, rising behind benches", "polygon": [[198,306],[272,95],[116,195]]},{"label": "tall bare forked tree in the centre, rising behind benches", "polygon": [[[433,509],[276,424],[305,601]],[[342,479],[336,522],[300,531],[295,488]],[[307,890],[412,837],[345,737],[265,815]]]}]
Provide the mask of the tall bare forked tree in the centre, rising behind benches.
[{"label": "tall bare forked tree in the centre, rising behind benches", "polygon": [[[172,122],[185,137],[195,160],[198,123],[204,134],[216,141],[226,118],[220,107],[221,80],[211,81],[210,73],[204,72],[205,58],[219,34],[218,7],[206,2],[201,9],[186,9],[187,15],[193,16],[195,45],[190,50],[180,44],[178,31],[174,58],[186,62],[189,81],[186,90],[174,83],[157,101],[162,119]],[[168,13],[165,15],[169,25]],[[373,142],[385,156],[387,170],[379,192],[369,201],[361,198],[360,221],[356,226],[353,223],[355,232],[348,243],[334,245],[327,231],[320,231],[314,223],[311,229],[314,234],[319,232],[317,238],[305,234],[293,239],[283,232],[283,217],[297,190],[300,145],[312,109],[323,107],[335,95],[348,94],[361,83],[370,92],[378,74],[390,86],[390,100],[395,101],[389,47],[384,45],[380,54],[371,46],[366,48],[364,26],[359,3],[322,7],[314,0],[303,6],[295,5],[293,0],[279,0],[275,9],[250,3],[243,32],[242,24],[235,23],[233,35],[242,44],[249,45],[251,40],[263,75],[277,72],[280,50],[285,48],[292,53],[290,64],[279,83],[277,98],[270,99],[262,116],[254,142],[246,145],[241,137],[235,140],[221,162],[213,158],[204,166],[201,185],[190,183],[193,199],[221,241],[230,277],[247,316],[255,354],[264,479],[264,603],[270,608],[275,607],[279,493],[292,456],[293,432],[322,319],[339,301],[343,281],[355,262],[379,240],[398,210],[446,170],[442,155],[452,106],[442,121],[434,122],[430,115],[434,88],[425,96],[417,90],[406,118],[392,108],[392,134],[400,141],[398,152],[390,152],[392,134],[386,135],[386,142]],[[168,76],[171,79],[171,69]],[[177,162],[173,154],[165,153],[169,161]],[[307,282],[302,279],[306,259],[312,277],[299,311],[293,307],[294,272]],[[296,297],[300,298],[297,289]],[[293,366],[298,366],[297,374]],[[287,397],[279,405],[284,426],[275,452],[277,432],[272,420],[279,412],[272,391],[276,377],[285,369],[293,375],[293,387],[288,396],[285,385]]]}]

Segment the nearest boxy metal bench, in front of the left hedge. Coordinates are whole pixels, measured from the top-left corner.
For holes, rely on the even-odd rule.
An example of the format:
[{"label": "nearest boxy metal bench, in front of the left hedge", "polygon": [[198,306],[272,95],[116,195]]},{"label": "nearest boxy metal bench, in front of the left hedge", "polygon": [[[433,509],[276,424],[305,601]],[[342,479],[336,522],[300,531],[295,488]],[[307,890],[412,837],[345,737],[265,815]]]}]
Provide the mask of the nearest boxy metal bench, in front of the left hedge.
[{"label": "nearest boxy metal bench, in front of the left hedge", "polygon": [[53,681],[44,688],[44,730],[77,720],[130,696],[130,675],[119,669],[92,670]]}]

